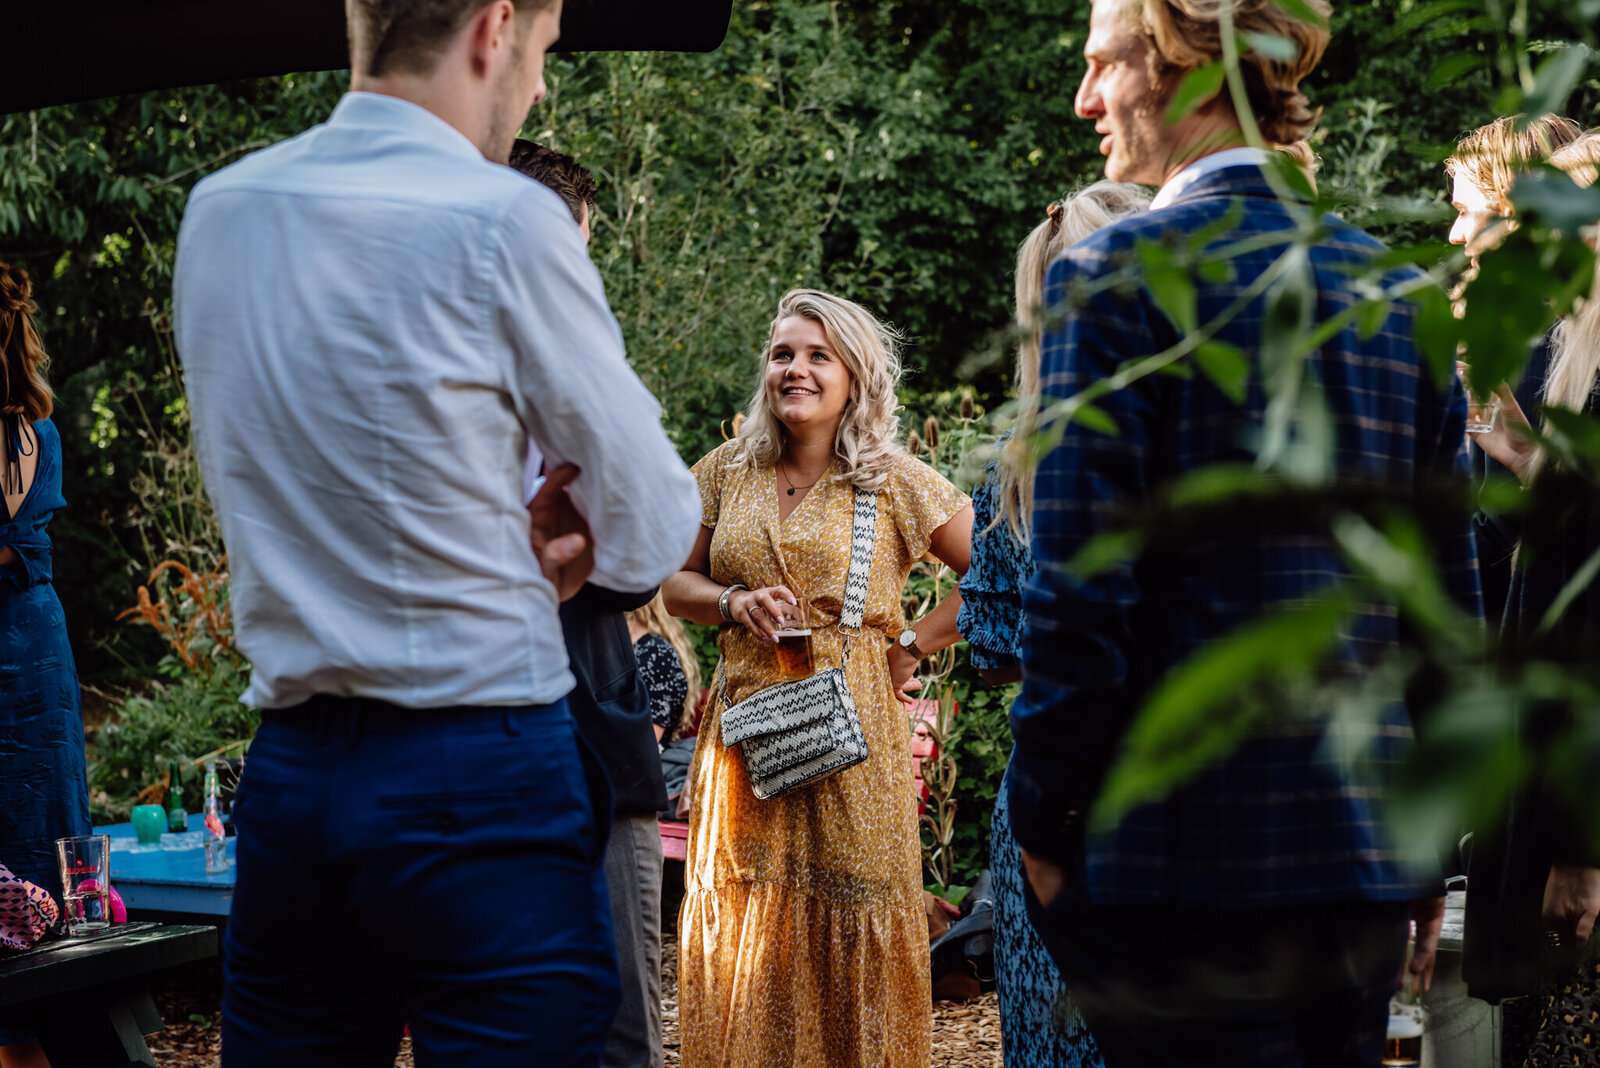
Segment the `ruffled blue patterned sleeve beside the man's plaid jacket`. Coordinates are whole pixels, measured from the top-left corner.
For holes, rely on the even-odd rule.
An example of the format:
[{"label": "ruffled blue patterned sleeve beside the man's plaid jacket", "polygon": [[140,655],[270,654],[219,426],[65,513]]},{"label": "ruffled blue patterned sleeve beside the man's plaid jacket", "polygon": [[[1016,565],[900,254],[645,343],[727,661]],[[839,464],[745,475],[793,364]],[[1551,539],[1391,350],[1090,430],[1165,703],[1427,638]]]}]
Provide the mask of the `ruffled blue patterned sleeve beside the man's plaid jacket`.
[{"label": "ruffled blue patterned sleeve beside the man's plaid jacket", "polygon": [[962,612],[955,628],[979,670],[1014,667],[1022,649],[1022,587],[1034,574],[1034,555],[1000,512],[1000,475],[990,464],[973,491],[973,561],[962,576]]}]

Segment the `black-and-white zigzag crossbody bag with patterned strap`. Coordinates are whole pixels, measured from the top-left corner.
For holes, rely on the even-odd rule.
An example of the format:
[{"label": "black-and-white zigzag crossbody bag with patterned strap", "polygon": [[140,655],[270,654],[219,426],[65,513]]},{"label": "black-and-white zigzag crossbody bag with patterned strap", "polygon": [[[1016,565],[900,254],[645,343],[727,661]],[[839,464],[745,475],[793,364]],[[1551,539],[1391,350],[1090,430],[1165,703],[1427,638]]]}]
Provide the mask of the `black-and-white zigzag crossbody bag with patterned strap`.
[{"label": "black-and-white zigzag crossbody bag with patterned strap", "polygon": [[722,687],[722,743],[738,745],[757,798],[776,798],[797,787],[826,779],[867,759],[867,739],[850,695],[845,665],[850,640],[861,633],[872,577],[872,544],[877,537],[878,496],[856,489],[856,518],[850,539],[850,571],[838,630],[845,635],[840,667],[826,668],[794,683],[768,686],[731,708],[728,683],[718,665]]}]

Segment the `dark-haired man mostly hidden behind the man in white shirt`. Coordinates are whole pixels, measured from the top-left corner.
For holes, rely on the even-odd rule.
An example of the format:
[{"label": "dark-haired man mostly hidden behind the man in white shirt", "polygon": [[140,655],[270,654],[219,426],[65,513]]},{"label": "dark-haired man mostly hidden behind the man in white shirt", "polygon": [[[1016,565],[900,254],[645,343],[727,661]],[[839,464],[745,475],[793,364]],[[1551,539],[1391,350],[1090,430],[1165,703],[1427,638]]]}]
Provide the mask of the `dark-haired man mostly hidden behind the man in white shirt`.
[{"label": "dark-haired man mostly hidden behind the man in white shirt", "polygon": [[[594,174],[578,160],[522,137],[510,168],[542,182],[573,213],[584,241],[595,209]],[[526,497],[539,481],[542,457],[528,456]],[[654,590],[622,593],[586,582],[562,601],[562,636],[578,683],[566,702],[578,734],[600,756],[611,779],[611,833],[605,846],[605,884],[611,895],[611,931],[622,980],[622,1001],[606,1034],[602,1068],[661,1068],[661,831],[656,814],[667,804],[661,748],[650,721],[650,691],[638,673],[627,617]]]}]

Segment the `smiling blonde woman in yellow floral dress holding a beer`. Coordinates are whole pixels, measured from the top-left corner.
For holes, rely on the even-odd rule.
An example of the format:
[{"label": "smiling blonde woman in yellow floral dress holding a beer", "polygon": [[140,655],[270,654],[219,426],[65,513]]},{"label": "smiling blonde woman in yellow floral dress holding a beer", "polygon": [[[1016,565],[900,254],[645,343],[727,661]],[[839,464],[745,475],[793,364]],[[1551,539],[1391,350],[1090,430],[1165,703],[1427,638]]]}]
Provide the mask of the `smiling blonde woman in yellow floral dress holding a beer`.
[{"label": "smiling blonde woman in yellow floral dress holding a beer", "polygon": [[[685,1068],[923,1068],[931,1058],[928,924],[901,697],[917,662],[957,641],[957,595],[906,625],[914,563],[957,572],[970,500],[896,443],[893,331],[850,301],[784,296],[736,438],[694,465],[704,528],[667,579],[667,608],[722,625],[725,692],[690,769],[686,895],[678,921]],[[774,635],[810,601],[813,664],[842,660],[837,627],[856,488],[877,492],[861,635],[846,676],[869,756],[757,799],[725,702],[782,681]],[[714,687],[717,689],[717,687]]]}]

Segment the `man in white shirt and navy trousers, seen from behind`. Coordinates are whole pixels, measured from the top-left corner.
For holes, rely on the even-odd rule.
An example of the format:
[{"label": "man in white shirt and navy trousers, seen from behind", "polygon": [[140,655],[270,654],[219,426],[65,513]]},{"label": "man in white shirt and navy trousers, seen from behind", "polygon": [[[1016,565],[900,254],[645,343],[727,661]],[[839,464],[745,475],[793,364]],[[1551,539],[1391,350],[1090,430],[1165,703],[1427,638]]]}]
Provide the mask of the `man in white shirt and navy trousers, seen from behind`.
[{"label": "man in white shirt and navy trousers, seen from behind", "polygon": [[[557,603],[659,584],[698,494],[566,208],[501,166],[560,0],[347,10],[352,93],[200,182],[179,235],[195,446],[264,710],[222,1058],[392,1063],[410,1025],[418,1063],[594,1063],[610,798]],[[530,441],[552,470],[531,529]]]}]

